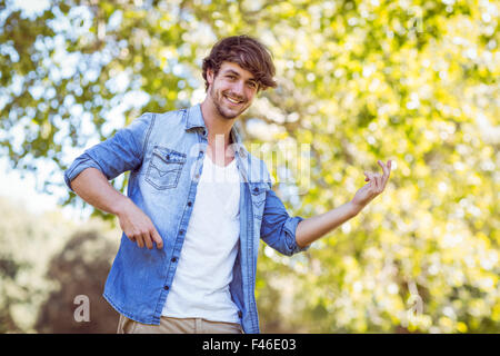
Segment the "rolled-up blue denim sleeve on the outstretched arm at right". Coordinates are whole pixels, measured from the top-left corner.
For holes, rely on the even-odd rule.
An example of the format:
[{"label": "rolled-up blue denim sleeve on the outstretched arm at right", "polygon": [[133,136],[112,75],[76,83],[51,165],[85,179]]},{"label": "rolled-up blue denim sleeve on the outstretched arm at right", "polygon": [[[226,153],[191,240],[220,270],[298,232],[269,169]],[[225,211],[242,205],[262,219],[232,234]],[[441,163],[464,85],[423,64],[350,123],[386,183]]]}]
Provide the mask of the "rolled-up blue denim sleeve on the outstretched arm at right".
[{"label": "rolled-up blue denim sleeve on the outstretched arm at right", "polygon": [[287,256],[309,249],[309,246],[300,248],[296,241],[297,226],[302,220],[300,216],[290,217],[276,192],[267,191],[260,230],[260,237],[266,244]]}]

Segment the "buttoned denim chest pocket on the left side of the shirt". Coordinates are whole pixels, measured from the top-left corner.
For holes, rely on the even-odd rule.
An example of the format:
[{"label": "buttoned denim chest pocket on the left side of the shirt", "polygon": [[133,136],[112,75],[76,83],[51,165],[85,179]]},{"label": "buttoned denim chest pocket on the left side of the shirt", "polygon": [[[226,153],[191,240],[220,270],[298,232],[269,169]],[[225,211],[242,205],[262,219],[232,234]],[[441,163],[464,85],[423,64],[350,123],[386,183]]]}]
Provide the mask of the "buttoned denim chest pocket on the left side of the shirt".
[{"label": "buttoned denim chest pocket on the left side of the shirt", "polygon": [[176,188],[184,164],[184,154],[154,146],[146,172],[146,181],[160,190]]}]

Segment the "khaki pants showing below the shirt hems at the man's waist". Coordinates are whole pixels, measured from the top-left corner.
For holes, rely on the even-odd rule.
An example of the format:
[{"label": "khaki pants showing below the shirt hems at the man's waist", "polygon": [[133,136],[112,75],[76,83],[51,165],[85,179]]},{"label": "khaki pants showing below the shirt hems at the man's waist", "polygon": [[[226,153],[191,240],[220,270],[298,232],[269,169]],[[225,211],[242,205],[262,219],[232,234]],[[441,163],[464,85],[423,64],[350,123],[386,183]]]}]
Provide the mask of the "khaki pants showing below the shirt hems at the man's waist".
[{"label": "khaki pants showing below the shirt hems at the man's waist", "polygon": [[141,324],[120,314],[117,334],[242,334],[240,324],[162,316],[160,325]]}]

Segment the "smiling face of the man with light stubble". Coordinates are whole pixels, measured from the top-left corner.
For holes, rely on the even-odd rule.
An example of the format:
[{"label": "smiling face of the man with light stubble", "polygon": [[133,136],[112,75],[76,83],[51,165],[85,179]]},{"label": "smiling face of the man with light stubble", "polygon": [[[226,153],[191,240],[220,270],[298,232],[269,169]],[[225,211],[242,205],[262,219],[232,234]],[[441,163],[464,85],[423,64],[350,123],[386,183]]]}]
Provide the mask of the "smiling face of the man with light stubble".
[{"label": "smiling face of the man with light stubble", "polygon": [[222,62],[217,76],[208,69],[207,80],[208,95],[226,119],[234,119],[247,110],[259,88],[253,75],[233,62]]}]

